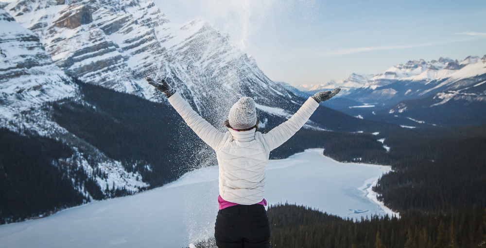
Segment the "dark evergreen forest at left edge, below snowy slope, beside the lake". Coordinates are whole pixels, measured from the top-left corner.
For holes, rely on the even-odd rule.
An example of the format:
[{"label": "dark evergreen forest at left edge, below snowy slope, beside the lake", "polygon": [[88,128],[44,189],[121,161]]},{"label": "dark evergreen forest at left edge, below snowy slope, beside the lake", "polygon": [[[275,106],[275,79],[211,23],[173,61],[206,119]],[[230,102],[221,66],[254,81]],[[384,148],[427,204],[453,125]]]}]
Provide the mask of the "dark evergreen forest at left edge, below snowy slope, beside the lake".
[{"label": "dark evergreen forest at left edge, below snowy slope, beside the lake", "polygon": [[21,136],[5,128],[0,128],[0,140],[0,224],[87,202],[69,178],[78,186],[97,187],[95,182],[85,181],[86,174],[74,169],[76,166],[56,163],[72,155],[62,142]]}]

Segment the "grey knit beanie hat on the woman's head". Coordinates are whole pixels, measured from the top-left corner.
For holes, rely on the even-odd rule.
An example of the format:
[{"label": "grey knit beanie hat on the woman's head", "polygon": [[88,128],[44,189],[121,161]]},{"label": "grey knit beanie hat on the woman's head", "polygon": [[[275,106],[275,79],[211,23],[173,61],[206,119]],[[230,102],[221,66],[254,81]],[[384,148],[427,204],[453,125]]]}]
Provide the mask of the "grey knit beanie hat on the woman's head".
[{"label": "grey knit beanie hat on the woman's head", "polygon": [[253,98],[243,96],[229,109],[229,125],[234,129],[248,129],[257,124],[257,111]]}]

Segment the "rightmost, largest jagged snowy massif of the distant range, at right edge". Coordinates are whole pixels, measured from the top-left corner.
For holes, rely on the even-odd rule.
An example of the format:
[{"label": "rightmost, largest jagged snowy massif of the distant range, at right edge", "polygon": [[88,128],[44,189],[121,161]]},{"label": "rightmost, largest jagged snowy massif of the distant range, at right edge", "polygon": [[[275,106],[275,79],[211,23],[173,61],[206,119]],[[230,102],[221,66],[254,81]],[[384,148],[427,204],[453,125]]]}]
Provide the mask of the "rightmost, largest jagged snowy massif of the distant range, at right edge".
[{"label": "rightmost, largest jagged snowy massif of the distant range, at right edge", "polygon": [[479,83],[485,74],[486,55],[469,56],[460,62],[444,58],[431,62],[409,61],[375,75],[350,97],[362,102],[394,104],[469,87]]}]

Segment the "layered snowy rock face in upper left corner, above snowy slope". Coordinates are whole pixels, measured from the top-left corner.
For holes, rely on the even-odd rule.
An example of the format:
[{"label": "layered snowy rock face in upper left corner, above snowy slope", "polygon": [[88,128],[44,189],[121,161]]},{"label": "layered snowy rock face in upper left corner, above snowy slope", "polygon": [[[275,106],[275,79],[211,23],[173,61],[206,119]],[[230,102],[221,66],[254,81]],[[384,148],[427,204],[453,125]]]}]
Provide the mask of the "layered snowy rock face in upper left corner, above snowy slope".
[{"label": "layered snowy rock face in upper left corner, above snowy slope", "polygon": [[75,85],[52,62],[32,31],[17,24],[3,9],[0,9],[0,26],[2,120],[75,94]]}]

